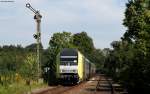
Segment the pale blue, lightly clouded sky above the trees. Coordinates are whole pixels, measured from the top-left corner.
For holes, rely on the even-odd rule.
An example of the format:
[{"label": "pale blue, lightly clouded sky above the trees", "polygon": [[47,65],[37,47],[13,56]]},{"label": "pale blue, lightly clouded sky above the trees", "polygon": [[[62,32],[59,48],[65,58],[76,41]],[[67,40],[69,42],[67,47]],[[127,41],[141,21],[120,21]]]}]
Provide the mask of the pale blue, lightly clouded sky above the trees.
[{"label": "pale blue, lightly clouded sky above the trees", "polygon": [[41,33],[44,48],[53,33],[82,31],[93,39],[96,48],[110,48],[112,41],[120,40],[126,28],[122,25],[127,0],[0,0],[0,46],[23,47],[35,43],[34,13],[26,3],[40,10]]}]

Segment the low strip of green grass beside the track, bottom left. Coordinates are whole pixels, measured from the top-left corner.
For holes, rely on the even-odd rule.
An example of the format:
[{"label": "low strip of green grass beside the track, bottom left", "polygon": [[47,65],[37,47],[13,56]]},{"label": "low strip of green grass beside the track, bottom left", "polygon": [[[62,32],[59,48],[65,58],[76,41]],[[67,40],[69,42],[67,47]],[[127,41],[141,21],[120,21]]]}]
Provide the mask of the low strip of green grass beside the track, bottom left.
[{"label": "low strip of green grass beside the track, bottom left", "polygon": [[27,94],[27,92],[30,92],[31,90],[34,90],[36,88],[42,88],[46,87],[46,84],[32,84],[31,87],[28,85],[25,85],[24,83],[13,83],[8,86],[2,86],[0,85],[0,94]]}]

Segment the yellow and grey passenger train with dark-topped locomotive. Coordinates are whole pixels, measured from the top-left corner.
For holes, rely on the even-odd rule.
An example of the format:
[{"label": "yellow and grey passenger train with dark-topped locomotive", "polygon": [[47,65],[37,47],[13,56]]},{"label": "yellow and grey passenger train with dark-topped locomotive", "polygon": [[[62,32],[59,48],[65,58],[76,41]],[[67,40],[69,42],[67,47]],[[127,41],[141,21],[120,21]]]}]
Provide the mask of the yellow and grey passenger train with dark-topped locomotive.
[{"label": "yellow and grey passenger train with dark-topped locomotive", "polygon": [[95,74],[95,64],[78,49],[64,48],[57,55],[56,72],[59,83],[78,84]]}]

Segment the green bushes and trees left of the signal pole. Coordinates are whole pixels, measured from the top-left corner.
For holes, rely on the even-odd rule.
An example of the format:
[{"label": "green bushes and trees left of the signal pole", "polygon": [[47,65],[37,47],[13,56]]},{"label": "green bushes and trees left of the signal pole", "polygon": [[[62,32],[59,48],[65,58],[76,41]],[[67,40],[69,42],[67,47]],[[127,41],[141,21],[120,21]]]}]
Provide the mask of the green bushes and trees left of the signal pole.
[{"label": "green bushes and trees left of the signal pole", "polygon": [[[34,51],[29,51],[20,45],[5,45],[0,47],[0,84],[7,86],[16,82],[17,77],[25,80],[31,78],[31,76],[32,78],[36,78],[34,77],[34,74],[36,75],[37,72],[35,59]],[[32,68],[29,66],[32,65],[29,62],[33,64]],[[30,75],[31,73],[32,75]]]}]

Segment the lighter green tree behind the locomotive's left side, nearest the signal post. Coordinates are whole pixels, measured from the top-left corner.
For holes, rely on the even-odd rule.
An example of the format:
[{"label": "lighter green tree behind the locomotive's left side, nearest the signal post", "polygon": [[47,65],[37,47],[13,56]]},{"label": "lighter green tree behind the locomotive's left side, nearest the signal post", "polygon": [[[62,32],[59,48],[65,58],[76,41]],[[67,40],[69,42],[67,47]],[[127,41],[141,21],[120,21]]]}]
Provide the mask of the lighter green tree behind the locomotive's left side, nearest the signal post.
[{"label": "lighter green tree behind the locomotive's left side, nearest the signal post", "polygon": [[44,67],[49,67],[46,78],[48,78],[49,85],[57,83],[56,80],[56,57],[61,49],[72,48],[72,35],[70,32],[54,33],[49,41],[49,48],[45,52],[45,56],[48,58],[45,61]]}]

